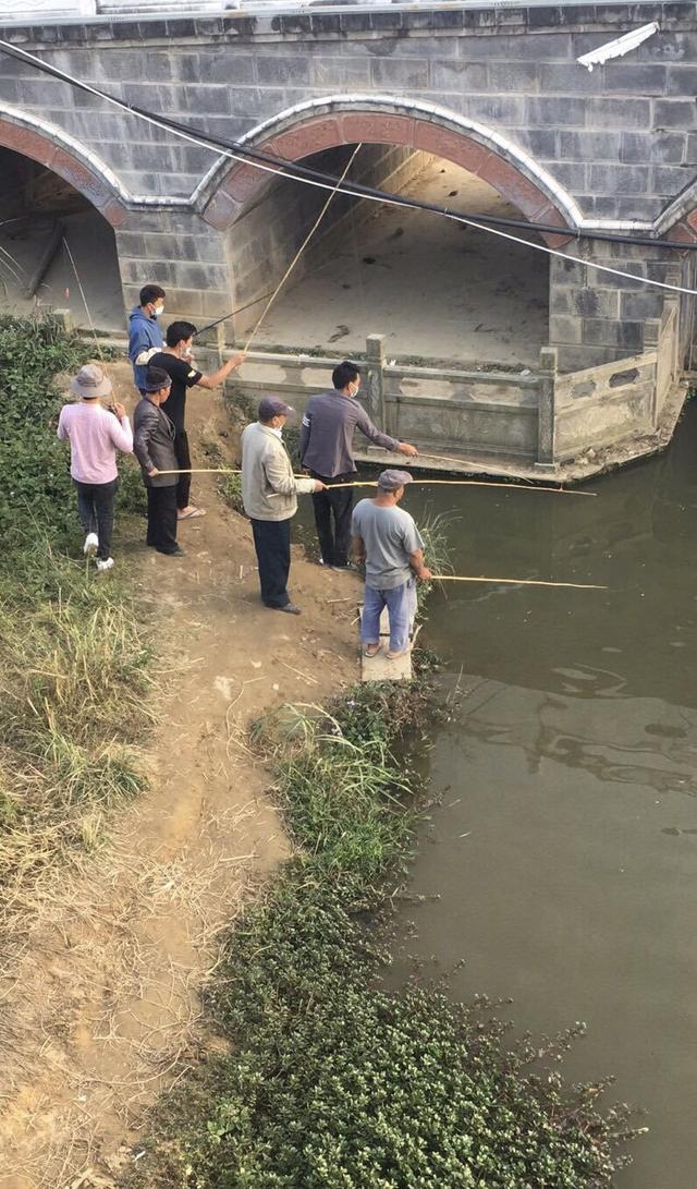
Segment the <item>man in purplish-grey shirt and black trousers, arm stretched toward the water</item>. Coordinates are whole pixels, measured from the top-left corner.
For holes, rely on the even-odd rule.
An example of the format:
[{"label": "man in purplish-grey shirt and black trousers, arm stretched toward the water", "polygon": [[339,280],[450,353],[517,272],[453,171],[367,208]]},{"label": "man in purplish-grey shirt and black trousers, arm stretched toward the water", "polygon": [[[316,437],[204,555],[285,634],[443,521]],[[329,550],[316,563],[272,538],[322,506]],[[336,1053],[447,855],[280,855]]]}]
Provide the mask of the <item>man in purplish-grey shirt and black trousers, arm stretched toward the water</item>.
[{"label": "man in purplish-grey shirt and black trousers, arm stretched toward the water", "polygon": [[353,487],[332,491],[332,484],[350,483],[356,473],[353,455],[354,429],[365,438],[416,458],[418,451],[408,442],[380,433],[368,414],[356,401],[361,386],[361,370],[355,364],[338,364],[331,373],[334,391],[311,396],[300,427],[300,463],[313,479],[327,484],[327,491],[312,496],[315,524],[324,566],[346,570],[351,537]]}]

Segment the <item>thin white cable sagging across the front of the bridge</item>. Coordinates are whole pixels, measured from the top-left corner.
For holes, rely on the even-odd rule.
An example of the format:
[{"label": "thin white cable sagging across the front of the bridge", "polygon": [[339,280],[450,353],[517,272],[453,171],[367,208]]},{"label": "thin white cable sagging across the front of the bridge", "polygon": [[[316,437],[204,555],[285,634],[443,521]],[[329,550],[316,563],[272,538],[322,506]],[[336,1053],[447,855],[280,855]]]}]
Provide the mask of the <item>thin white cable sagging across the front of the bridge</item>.
[{"label": "thin white cable sagging across the front of the bridge", "polygon": [[[191,130],[188,125],[182,125],[176,120],[169,119],[169,117],[160,117],[157,115],[156,113],[146,111],[145,108],[137,107],[135,105],[132,103],[126,103],[123,100],[116,99],[114,95],[109,95],[107,92],[100,90],[99,88],[93,87],[90,83],[85,83],[78,78],[75,78],[66,71],[58,70],[56,67],[49,65],[47,63],[43,62],[42,58],[38,58],[36,55],[30,54],[27,50],[23,50],[20,46],[12,45],[11,43],[5,42],[2,39],[0,39],[0,49],[5,50],[5,52],[7,52],[11,57],[19,58],[20,61],[28,61],[42,73],[49,74],[55,78],[59,78],[63,82],[68,82],[70,83],[70,86],[74,86],[80,90],[84,90],[89,94],[96,95],[99,99],[113,103],[115,107],[119,107],[127,114],[135,115],[145,120],[146,122],[153,125],[154,127],[159,127],[164,131],[175,132],[176,136],[179,136],[182,139],[188,140],[190,144],[195,144],[198,147],[211,149],[211,145],[214,145],[221,152],[222,156],[228,157],[232,161],[251,164],[253,168],[259,169],[264,172],[278,175],[279,171],[283,171],[290,178],[294,178],[296,181],[302,181],[305,184],[315,185],[318,187],[319,189],[325,189],[325,190],[336,189],[336,183],[338,181],[337,178],[332,178],[331,183],[329,183],[329,182],[315,181],[308,176],[300,176],[311,174],[312,171],[308,170],[305,166],[297,166],[296,163],[284,161],[283,158],[275,158],[275,159],[270,158],[268,155],[259,153],[256,150],[248,149],[246,145],[240,145],[235,141],[223,141],[222,138],[213,137],[209,133],[202,132],[199,130]],[[230,151],[230,149],[223,147],[223,144],[224,145],[230,144],[235,151]],[[274,161],[275,163],[273,165],[262,164],[262,161],[265,159]],[[322,175],[322,176],[329,177],[330,175]],[[473,227],[477,231],[489,232],[489,234],[498,235],[499,238],[509,240],[511,243],[520,244],[525,247],[531,247],[538,252],[544,252],[546,256],[557,257],[558,259],[565,262],[571,260],[574,264],[578,264],[581,268],[595,269],[597,272],[604,272],[616,277],[625,277],[628,278],[629,281],[639,282],[639,284],[648,285],[655,289],[665,289],[671,292],[680,292],[689,295],[697,294],[697,290],[688,289],[683,285],[670,284],[665,281],[653,281],[650,277],[636,276],[636,273],[634,272],[627,272],[622,269],[613,269],[609,265],[598,264],[594,260],[579,260],[576,257],[570,257],[565,252],[559,252],[556,249],[547,247],[546,245],[536,244],[532,240],[522,239],[518,235],[509,235],[507,232],[503,232],[493,226],[486,226],[482,222],[477,222],[474,219],[470,219],[465,215],[449,210],[446,207],[438,207],[433,203],[425,203],[413,199],[404,199],[399,195],[384,194],[380,190],[373,190],[369,187],[362,187],[359,183],[353,183],[353,182],[349,183],[348,185],[347,184],[342,185],[341,193],[349,194],[354,197],[367,199],[368,201],[378,202],[385,206],[397,206],[411,209],[429,210],[430,213],[439,214],[455,222],[463,224],[467,227]],[[533,225],[527,225],[527,226],[533,226]],[[558,234],[563,235],[566,233],[574,235],[575,238],[582,238],[582,237],[588,238],[584,235],[583,232],[577,232],[571,228],[564,229],[555,227],[553,233],[557,235]],[[651,240],[650,243],[657,247],[666,247],[666,246],[679,247],[680,251],[697,246],[697,245],[667,243],[665,240]]]}]

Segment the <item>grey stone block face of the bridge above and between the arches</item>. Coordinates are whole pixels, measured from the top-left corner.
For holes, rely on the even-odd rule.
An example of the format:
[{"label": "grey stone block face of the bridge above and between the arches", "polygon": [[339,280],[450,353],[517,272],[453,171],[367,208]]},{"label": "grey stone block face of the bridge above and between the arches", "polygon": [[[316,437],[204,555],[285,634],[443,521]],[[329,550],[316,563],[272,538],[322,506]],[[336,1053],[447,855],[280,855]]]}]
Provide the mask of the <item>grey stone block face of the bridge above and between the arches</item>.
[{"label": "grey stone block face of the bridge above and between the arches", "polygon": [[[576,62],[653,19],[660,32],[626,57],[593,73]],[[544,178],[545,193],[560,195],[558,209],[577,226],[664,234],[697,202],[693,4],[480,11],[394,5],[373,13],[228,13],[6,32],[118,97],[229,139],[329,96],[394,100],[406,117],[423,120],[435,117],[410,105],[433,105],[452,119],[476,121],[479,144],[499,155],[508,187],[509,163],[520,163],[521,199],[530,181]],[[227,168],[217,150],[184,143],[5,55],[0,105],[58,130],[91,162],[94,177],[104,169],[113,175],[114,201],[102,202],[103,185],[95,193],[107,216],[118,205],[127,303],[152,278],[171,292],[170,308],[194,320],[230,307],[246,281],[235,277],[227,232],[207,221],[207,203]],[[50,127],[43,134],[53,136]],[[684,235],[693,241],[697,232],[686,227]],[[550,342],[558,345],[562,366],[641,350],[655,295],[594,273],[576,244],[564,251],[568,260],[552,262],[550,300]],[[584,241],[587,252],[646,276],[692,272],[686,258],[658,247],[623,252]]]}]

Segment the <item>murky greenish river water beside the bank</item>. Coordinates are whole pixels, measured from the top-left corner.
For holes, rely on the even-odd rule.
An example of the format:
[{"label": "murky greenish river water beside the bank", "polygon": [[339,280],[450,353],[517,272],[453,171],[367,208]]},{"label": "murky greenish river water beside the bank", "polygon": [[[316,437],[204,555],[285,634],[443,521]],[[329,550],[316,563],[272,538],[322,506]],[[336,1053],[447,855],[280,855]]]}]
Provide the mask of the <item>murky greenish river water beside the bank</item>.
[{"label": "murky greenish river water beside the bank", "polygon": [[[454,718],[423,768],[392,981],[413,957],[458,998],[512,996],[518,1030],[583,1020],[574,1080],[616,1075],[650,1133],[617,1189],[695,1189],[697,405],[663,455],[596,498],[412,487],[449,512],[455,572],[607,591],[449,584],[424,642]],[[410,924],[417,927],[411,936]]]}]

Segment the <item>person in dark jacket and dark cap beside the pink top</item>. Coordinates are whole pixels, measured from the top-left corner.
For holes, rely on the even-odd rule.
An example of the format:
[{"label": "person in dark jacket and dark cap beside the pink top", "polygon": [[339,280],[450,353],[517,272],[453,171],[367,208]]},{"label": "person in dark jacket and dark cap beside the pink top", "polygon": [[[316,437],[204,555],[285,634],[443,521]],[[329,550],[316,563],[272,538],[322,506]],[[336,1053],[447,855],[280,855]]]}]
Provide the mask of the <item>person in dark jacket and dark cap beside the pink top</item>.
[{"label": "person in dark jacket and dark cap beside the pink top", "polygon": [[177,545],[177,471],[175,427],[160,404],[170,395],[171,379],[161,367],[145,373],[145,396],[133,414],[133,453],[140,463],[147,490],[147,545],[158,553],[182,558]]}]

